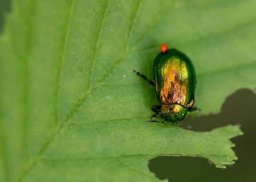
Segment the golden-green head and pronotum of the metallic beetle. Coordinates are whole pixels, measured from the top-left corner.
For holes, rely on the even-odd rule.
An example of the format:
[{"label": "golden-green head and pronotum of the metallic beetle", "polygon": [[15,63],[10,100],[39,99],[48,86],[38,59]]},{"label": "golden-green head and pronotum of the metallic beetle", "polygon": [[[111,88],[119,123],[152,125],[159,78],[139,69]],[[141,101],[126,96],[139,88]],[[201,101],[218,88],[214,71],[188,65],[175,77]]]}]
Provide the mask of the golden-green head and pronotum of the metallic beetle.
[{"label": "golden-green head and pronotum of the metallic beetle", "polygon": [[181,121],[185,118],[188,109],[179,104],[163,104],[161,107],[161,118],[169,122]]}]

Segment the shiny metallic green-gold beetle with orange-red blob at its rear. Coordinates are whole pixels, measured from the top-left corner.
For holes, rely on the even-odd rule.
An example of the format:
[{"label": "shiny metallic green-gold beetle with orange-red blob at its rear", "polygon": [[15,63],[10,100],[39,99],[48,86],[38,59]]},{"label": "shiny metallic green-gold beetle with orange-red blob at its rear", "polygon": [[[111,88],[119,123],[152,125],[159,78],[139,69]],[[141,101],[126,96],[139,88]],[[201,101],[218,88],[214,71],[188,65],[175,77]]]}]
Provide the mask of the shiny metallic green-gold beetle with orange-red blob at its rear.
[{"label": "shiny metallic green-gold beetle with orange-red blob at its rear", "polygon": [[[190,59],[176,49],[167,50],[167,46],[162,44],[160,46],[161,53],[159,53],[154,62],[154,82],[147,80],[147,78],[140,74],[137,75],[144,78],[149,84],[155,86],[156,96],[162,105],[153,105],[152,111],[156,114],[151,118],[155,118],[160,114],[165,121],[153,121],[166,123],[181,121],[185,118],[188,111],[200,110],[192,107],[194,104],[195,94],[195,70]],[[188,125],[177,124],[185,126],[187,129],[192,129]]]}]

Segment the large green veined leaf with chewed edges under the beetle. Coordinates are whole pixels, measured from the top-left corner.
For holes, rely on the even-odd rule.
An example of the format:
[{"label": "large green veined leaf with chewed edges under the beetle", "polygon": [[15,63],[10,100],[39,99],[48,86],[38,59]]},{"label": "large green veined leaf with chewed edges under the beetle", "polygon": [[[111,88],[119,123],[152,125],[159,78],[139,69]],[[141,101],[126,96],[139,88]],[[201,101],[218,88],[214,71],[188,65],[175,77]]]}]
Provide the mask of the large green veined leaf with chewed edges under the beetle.
[{"label": "large green veined leaf with chewed edges under the beetle", "polygon": [[[0,39],[1,181],[157,181],[159,155],[237,159],[238,126],[147,123],[153,61],[166,43],[197,74],[198,114],[255,87],[256,2],[13,0]],[[161,119],[161,118],[160,118]]]}]

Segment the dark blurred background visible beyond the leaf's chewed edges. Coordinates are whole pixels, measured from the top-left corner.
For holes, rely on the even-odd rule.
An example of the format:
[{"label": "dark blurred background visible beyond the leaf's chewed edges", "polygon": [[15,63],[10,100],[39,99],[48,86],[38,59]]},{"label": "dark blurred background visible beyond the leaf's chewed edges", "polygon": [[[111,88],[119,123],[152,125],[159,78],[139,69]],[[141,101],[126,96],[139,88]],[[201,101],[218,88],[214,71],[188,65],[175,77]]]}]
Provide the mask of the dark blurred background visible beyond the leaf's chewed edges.
[{"label": "dark blurred background visible beyond the leaf's chewed edges", "polygon": [[[0,1],[0,31],[4,14],[10,11],[9,0]],[[210,131],[228,124],[239,124],[243,136],[232,139],[238,156],[235,164],[227,169],[215,168],[204,158],[161,156],[149,161],[149,170],[163,180],[170,182],[251,182],[256,181],[256,95],[247,89],[238,90],[229,96],[219,114],[186,118],[182,123],[189,124],[195,131]],[[203,108],[202,108],[203,109]],[[203,140],[203,139],[202,139]]]}]

